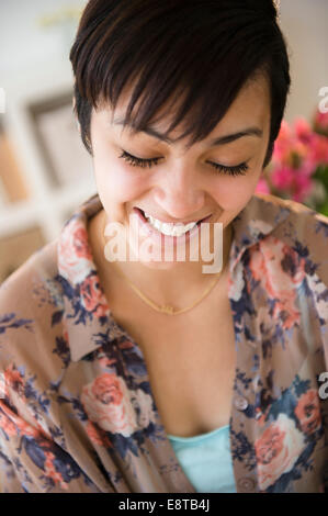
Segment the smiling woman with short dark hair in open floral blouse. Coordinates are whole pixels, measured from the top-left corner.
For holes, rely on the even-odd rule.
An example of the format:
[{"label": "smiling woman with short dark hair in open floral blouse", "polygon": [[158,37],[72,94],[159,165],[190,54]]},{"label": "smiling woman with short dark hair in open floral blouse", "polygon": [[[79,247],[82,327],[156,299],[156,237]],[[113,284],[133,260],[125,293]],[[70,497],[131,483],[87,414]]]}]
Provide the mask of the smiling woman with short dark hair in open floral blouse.
[{"label": "smiling woman with short dark hair in open floral blouse", "polygon": [[98,194],[0,291],[2,491],[324,492],[328,220],[255,193],[272,0],[91,0],[70,59]]}]

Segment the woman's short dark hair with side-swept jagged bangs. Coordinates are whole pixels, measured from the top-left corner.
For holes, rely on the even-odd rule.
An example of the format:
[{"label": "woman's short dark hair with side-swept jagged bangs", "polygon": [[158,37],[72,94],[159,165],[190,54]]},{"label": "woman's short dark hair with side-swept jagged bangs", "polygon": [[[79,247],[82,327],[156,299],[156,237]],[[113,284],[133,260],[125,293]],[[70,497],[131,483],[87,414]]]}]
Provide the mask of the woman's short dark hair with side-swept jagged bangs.
[{"label": "woman's short dark hair with side-swept jagged bangs", "polygon": [[193,145],[263,74],[271,96],[263,168],[270,162],[291,85],[273,0],[90,0],[69,57],[75,112],[90,154],[92,108],[105,102],[115,110],[127,85],[134,89],[126,124],[144,131],[169,99],[181,99],[166,136],[183,121],[181,138],[191,135]]}]

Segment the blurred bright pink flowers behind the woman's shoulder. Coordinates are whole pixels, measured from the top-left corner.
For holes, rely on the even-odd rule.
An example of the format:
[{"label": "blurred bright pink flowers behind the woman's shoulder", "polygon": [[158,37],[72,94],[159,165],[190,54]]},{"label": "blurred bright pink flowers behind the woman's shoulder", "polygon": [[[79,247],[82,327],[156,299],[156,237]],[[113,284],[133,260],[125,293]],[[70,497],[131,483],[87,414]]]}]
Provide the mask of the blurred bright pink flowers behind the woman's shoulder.
[{"label": "blurred bright pink flowers behind the woman's shoulder", "polygon": [[301,202],[328,216],[328,112],[316,111],[312,124],[298,117],[281,124],[270,165],[258,192]]}]

